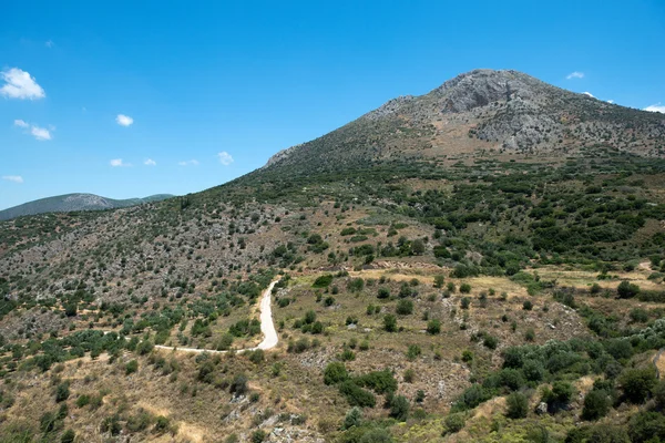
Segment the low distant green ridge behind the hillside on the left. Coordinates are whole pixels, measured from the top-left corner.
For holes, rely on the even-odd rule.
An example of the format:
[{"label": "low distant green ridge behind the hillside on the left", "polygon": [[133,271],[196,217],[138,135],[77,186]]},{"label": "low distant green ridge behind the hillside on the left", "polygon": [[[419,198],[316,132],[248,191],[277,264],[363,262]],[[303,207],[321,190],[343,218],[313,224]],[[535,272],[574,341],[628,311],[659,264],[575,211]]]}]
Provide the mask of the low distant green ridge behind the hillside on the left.
[{"label": "low distant green ridge behind the hillside on the left", "polygon": [[171,197],[173,197],[171,194],[156,194],[145,198],[127,198],[123,200],[116,200],[94,194],[65,194],[58,195],[55,197],[40,198],[39,200],[28,202],[22,205],[0,210],[0,220],[9,220],[25,215],[44,213],[115,209],[143,205],[145,203],[160,202]]}]

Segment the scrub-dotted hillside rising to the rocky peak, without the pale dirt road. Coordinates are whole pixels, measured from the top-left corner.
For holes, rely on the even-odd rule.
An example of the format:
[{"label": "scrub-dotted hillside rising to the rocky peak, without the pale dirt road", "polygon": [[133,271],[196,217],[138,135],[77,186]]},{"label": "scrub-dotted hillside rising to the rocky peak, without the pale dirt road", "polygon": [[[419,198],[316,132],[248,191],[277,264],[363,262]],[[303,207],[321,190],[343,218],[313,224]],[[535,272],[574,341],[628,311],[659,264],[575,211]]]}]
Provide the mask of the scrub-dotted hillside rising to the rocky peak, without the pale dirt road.
[{"label": "scrub-dotted hillside rising to the rocky peak, without the pale dirt road", "polygon": [[[472,71],[215,188],[2,222],[0,442],[665,439],[662,119]],[[270,281],[279,341],[235,352]]]}]

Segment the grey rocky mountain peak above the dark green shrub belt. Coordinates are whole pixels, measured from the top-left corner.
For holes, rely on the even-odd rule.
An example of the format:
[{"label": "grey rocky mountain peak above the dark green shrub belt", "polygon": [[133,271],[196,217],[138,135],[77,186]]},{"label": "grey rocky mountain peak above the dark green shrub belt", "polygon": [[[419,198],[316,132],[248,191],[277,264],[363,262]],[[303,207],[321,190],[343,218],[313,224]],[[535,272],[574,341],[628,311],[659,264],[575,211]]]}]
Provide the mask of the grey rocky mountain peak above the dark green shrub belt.
[{"label": "grey rocky mountain peak above the dark green shrub belt", "polygon": [[329,134],[280,152],[266,166],[429,161],[479,150],[570,156],[590,146],[662,157],[664,119],[519,71],[478,69],[427,94],[389,100]]}]

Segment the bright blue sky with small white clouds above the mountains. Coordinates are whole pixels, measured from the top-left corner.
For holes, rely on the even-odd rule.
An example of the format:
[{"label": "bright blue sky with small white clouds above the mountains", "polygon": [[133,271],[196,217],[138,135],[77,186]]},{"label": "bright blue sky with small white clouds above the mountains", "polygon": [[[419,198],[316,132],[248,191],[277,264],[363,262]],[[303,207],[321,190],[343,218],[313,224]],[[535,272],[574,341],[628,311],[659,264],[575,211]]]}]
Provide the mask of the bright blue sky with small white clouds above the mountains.
[{"label": "bright blue sky with small white clouds above the mountains", "polygon": [[663,42],[663,0],[6,2],[0,208],[202,190],[477,68],[665,111]]}]

